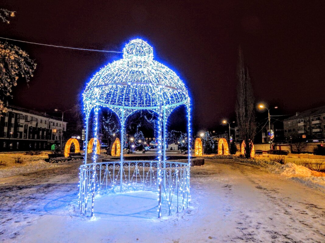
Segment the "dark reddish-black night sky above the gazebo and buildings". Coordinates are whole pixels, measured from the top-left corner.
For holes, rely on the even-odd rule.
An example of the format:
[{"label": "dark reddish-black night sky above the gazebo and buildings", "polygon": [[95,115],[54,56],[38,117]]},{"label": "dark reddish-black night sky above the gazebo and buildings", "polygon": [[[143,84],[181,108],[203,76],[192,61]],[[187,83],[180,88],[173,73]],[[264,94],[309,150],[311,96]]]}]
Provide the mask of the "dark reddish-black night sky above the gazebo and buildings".
[{"label": "dark reddish-black night sky above the gazebo and buildings", "polygon": [[[255,98],[285,113],[324,104],[324,1],[5,1],[16,11],[0,36],[80,48],[121,51],[140,37],[155,59],[188,86],[197,129],[234,114],[241,45]],[[11,104],[39,111],[69,109],[100,67],[122,54],[17,44],[35,59]]]}]

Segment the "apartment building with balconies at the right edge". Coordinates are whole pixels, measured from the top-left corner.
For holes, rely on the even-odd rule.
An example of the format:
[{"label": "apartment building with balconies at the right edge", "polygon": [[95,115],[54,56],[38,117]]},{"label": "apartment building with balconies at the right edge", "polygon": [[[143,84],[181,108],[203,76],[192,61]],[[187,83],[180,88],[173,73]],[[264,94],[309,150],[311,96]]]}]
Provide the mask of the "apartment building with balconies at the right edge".
[{"label": "apartment building with balconies at the right edge", "polygon": [[297,112],[283,120],[287,141],[295,139],[325,139],[325,106]]}]

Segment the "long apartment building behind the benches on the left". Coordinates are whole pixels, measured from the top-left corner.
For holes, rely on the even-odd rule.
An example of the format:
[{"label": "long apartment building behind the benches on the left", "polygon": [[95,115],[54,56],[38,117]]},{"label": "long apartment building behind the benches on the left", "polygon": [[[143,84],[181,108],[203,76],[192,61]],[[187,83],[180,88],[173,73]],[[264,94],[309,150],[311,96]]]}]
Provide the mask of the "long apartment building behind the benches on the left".
[{"label": "long apartment building behind the benches on the left", "polygon": [[0,151],[50,150],[59,144],[67,122],[20,107],[8,107],[0,117]]}]

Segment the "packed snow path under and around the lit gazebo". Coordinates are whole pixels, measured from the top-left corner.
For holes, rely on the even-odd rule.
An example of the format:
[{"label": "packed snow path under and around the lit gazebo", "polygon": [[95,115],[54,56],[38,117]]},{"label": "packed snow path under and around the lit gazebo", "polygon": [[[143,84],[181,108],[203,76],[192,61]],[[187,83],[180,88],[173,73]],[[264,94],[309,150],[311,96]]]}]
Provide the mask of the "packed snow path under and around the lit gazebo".
[{"label": "packed snow path under and around the lit gazebo", "polygon": [[[80,162],[0,179],[2,242],[325,242],[325,194],[258,167],[206,159],[191,168],[188,210],[156,218],[155,196],[75,208]],[[142,202],[143,205],[137,202]]]}]

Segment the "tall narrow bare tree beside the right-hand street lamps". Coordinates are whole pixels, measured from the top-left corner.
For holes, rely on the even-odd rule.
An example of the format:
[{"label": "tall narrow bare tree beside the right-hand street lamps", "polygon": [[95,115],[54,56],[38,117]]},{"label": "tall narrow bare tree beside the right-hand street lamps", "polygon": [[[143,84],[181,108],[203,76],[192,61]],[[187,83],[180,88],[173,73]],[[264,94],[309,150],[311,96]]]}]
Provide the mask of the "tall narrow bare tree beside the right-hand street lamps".
[{"label": "tall narrow bare tree beside the right-hand street lamps", "polygon": [[237,67],[237,103],[236,117],[240,130],[241,139],[245,140],[245,157],[251,157],[253,138],[256,133],[255,112],[254,112],[254,96],[249,76],[248,67],[244,64],[243,54],[239,48],[239,63]]}]

